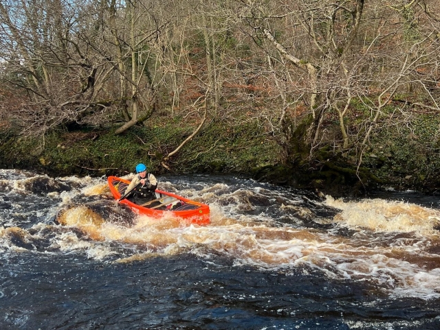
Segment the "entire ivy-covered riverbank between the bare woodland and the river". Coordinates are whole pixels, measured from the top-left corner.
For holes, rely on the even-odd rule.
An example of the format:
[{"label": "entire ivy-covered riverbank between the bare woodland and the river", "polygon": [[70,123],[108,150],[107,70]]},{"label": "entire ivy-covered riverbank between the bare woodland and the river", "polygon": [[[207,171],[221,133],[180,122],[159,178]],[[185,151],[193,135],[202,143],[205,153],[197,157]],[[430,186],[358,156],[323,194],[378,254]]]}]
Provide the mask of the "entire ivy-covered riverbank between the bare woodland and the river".
[{"label": "entire ivy-covered riverbank between the bare woodland and the river", "polygon": [[183,125],[178,118],[164,123],[157,117],[120,135],[113,134],[113,128],[82,128],[25,139],[3,131],[0,167],[32,169],[50,176],[119,176],[143,162],[157,175],[237,174],[333,196],[359,196],[384,187],[436,194],[440,191],[439,119],[417,121],[408,132],[393,127],[377,130],[360,166],[354,152],[338,152],[331,141],[314,158],[292,150],[287,154],[278,137],[257,121],[249,121],[226,127],[224,123],[206,124],[164,167],[164,156],[187,139],[197,123]]}]

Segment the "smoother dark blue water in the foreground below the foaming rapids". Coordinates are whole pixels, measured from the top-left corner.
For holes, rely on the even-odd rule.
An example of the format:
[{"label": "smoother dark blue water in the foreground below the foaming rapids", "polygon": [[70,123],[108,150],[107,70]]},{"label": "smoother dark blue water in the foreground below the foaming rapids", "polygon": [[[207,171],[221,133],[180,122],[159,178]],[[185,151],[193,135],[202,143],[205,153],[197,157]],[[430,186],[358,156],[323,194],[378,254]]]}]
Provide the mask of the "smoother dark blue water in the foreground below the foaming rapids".
[{"label": "smoother dark blue water in the foreground below the foaming rapids", "polygon": [[316,270],[284,274],[191,255],[128,264],[80,255],[0,262],[1,329],[440,327],[438,300],[390,299],[368,283],[325,281]]}]

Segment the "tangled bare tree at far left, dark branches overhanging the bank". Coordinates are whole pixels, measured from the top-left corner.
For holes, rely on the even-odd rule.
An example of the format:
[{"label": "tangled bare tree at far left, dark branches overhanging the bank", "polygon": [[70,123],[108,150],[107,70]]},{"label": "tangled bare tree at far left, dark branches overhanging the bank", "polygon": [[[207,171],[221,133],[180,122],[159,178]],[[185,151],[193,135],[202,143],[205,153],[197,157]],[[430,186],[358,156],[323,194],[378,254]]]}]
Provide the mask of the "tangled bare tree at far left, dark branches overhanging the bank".
[{"label": "tangled bare tree at far left, dark branches overhanging the bank", "polygon": [[0,4],[5,36],[1,58],[10,69],[3,80],[25,91],[20,113],[10,114],[19,118],[24,132],[45,134],[69,123],[109,117],[111,102],[102,102],[100,93],[113,69],[84,47],[85,38],[99,40],[83,28],[91,23],[83,19],[93,15],[82,15],[89,10],[94,12],[93,6],[80,1]]}]

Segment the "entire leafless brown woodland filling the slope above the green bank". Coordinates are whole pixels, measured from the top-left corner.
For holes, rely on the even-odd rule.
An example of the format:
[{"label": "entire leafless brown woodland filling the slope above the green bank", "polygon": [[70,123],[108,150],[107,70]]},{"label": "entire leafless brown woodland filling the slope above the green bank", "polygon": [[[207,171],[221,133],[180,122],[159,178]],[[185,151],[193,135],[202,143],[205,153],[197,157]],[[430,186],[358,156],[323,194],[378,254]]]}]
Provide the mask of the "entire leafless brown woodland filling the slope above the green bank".
[{"label": "entire leafless brown woodland filling the slope above the green bank", "polygon": [[[39,134],[106,122],[118,134],[159,108],[195,130],[207,118],[256,122],[291,161],[329,140],[362,158],[391,102],[438,110],[438,10],[429,0],[3,1],[1,78],[23,99],[3,117]],[[354,103],[369,109],[362,122]]]}]

